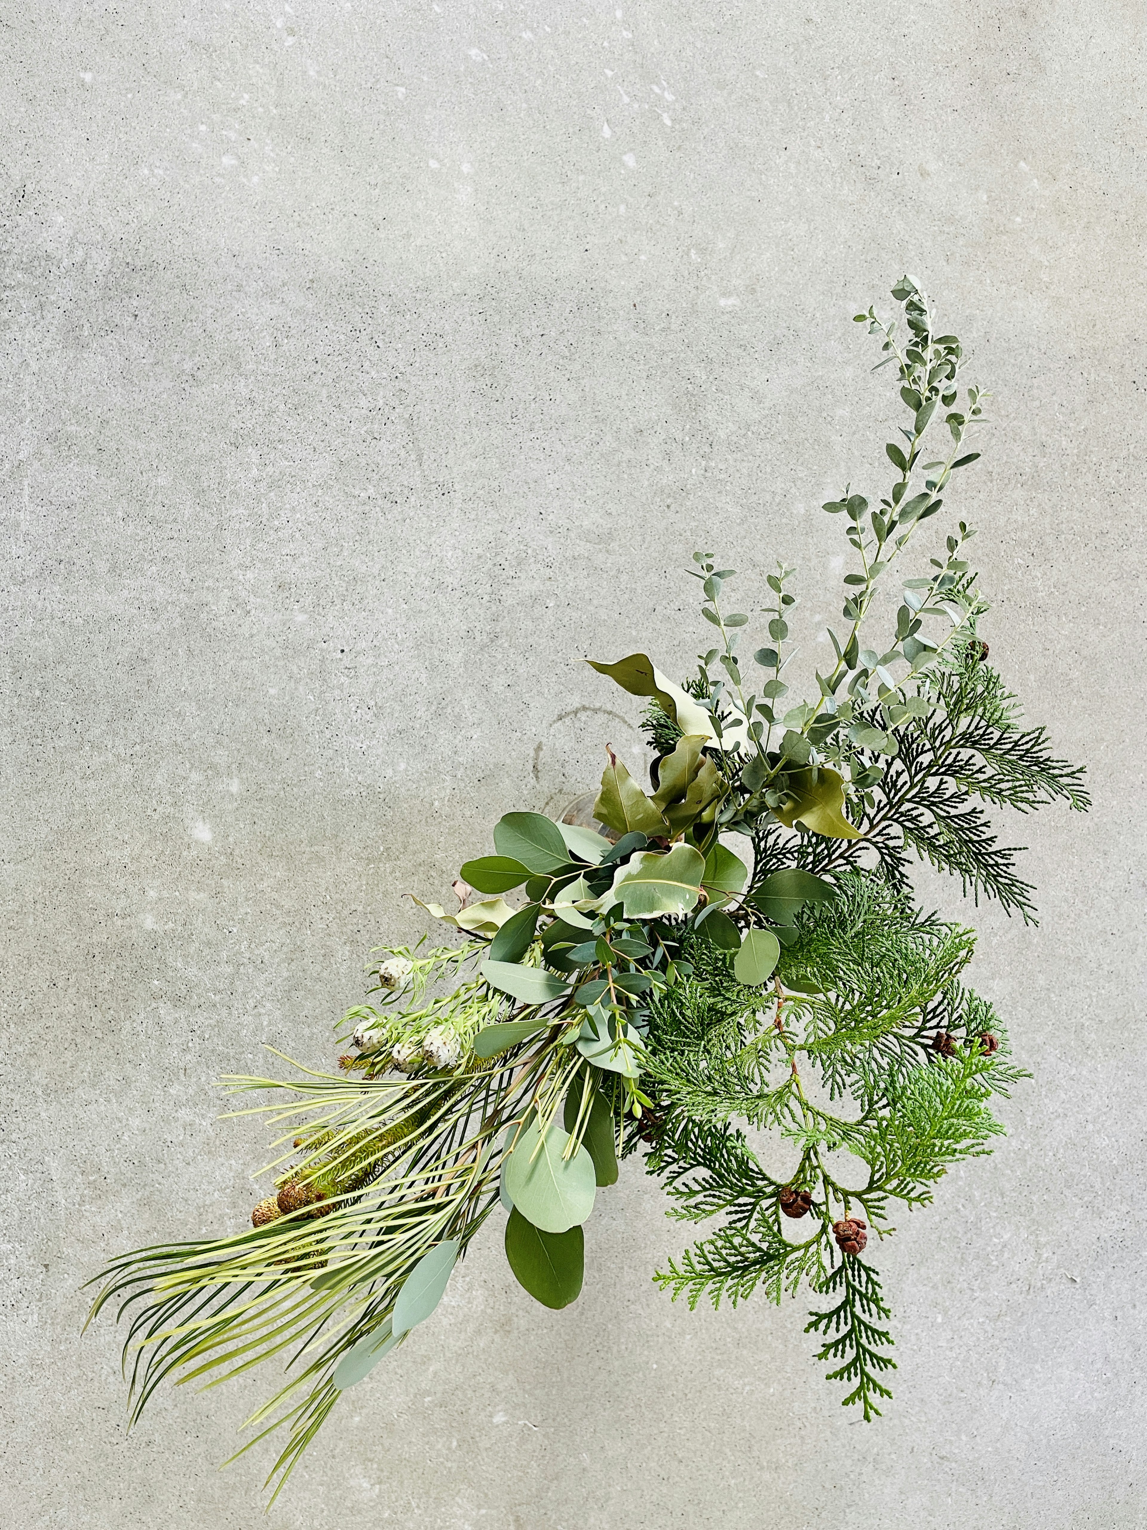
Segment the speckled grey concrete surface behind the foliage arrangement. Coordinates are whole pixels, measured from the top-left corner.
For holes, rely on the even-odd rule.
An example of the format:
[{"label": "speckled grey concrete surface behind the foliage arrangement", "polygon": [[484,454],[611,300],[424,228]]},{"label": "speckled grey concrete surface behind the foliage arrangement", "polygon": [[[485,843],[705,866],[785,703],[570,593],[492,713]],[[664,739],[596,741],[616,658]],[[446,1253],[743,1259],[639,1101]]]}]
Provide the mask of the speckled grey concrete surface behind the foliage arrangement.
[{"label": "speckled grey concrete surface behind the foliage arrangement", "polygon": [[976,915],[1035,1080],[879,1250],[895,1401],[804,1305],[658,1294],[635,1167],[577,1307],[486,1238],[275,1522],[1142,1524],[1142,9],[61,0],[0,58],[3,1521],[263,1522],[266,1455],[214,1467],[266,1383],[125,1438],[81,1279],[242,1226],[213,1080],[329,1063],[399,894],[632,747],[580,659],[687,666],[697,543],[823,615],[908,268],[997,395],[993,656],[1095,811],[1011,826],[1038,930]]}]

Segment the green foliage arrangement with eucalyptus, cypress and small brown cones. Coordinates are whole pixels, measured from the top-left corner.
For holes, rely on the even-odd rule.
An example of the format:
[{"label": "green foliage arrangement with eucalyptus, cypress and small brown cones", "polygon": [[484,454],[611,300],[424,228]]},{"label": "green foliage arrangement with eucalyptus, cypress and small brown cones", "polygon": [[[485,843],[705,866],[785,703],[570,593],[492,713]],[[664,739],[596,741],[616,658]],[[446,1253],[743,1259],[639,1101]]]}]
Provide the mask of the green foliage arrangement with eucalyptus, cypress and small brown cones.
[{"label": "green foliage arrangement with eucalyptus, cypress and small brown cones", "polygon": [[[989,809],[1087,806],[1081,771],[1020,725],[988,662],[968,525],[904,568],[979,456],[986,395],[959,404],[959,340],[933,332],[910,278],[893,297],[902,323],[856,320],[896,369],[905,424],[878,505],[849,488],[824,505],[852,569],[815,693],[795,701],[785,679],[794,571],[768,577],[768,646],[745,656],[734,574],[694,554],[713,629],[696,673],[676,685],[644,653],[593,662],[648,699],[651,791],[609,751],[580,822],[506,814],[494,854],[462,866],[462,907],[424,904],[460,944],[381,953],[370,1002],[341,1022],[353,1051],[338,1074],[229,1080],[278,1091],[254,1106],[281,1157],[252,1226],[124,1255],[98,1278],[93,1313],[112,1302],[130,1319],[133,1420],[168,1375],[219,1385],[281,1357],[286,1385],[243,1447],[286,1426],[277,1493],[341,1394],[431,1314],[488,1218],[526,1291],[575,1300],[583,1227],[632,1152],[671,1215],[710,1224],[661,1287],[716,1307],[807,1284],[806,1331],[844,1403],[870,1420],[892,1395],[867,1239],[989,1151],[991,1097],[1023,1077],[963,985],[973,932],[916,907],[908,866],[1032,920]],[[893,627],[875,644],[889,588]],[[746,1129],[788,1152],[783,1178]]]}]

